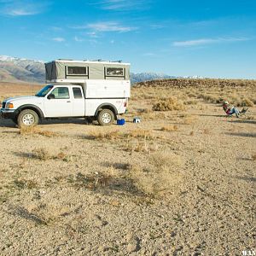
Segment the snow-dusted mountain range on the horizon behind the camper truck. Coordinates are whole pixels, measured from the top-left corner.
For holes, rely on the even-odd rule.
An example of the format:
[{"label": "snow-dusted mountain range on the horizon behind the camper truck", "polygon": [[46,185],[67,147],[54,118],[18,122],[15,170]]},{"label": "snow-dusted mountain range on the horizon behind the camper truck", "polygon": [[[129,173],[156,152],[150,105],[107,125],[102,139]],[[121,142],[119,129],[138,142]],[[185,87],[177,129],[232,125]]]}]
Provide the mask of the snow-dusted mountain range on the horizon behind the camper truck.
[{"label": "snow-dusted mountain range on the horizon behind the camper truck", "polygon": [[[164,73],[131,73],[131,84],[158,79],[177,79],[180,77]],[[199,79],[201,77],[186,77]],[[26,60],[0,55],[0,81],[14,83],[45,83],[44,61]]]}]

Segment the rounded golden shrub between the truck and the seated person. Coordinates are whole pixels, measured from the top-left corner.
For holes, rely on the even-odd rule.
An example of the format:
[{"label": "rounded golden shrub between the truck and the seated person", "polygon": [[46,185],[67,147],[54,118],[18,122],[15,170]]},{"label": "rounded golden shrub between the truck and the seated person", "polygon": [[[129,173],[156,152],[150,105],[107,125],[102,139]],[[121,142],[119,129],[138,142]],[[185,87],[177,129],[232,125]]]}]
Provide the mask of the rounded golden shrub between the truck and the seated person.
[{"label": "rounded golden shrub between the truck and the seated person", "polygon": [[185,106],[182,101],[177,100],[175,97],[161,99],[155,102],[153,105],[154,111],[172,111],[172,110],[184,110]]}]

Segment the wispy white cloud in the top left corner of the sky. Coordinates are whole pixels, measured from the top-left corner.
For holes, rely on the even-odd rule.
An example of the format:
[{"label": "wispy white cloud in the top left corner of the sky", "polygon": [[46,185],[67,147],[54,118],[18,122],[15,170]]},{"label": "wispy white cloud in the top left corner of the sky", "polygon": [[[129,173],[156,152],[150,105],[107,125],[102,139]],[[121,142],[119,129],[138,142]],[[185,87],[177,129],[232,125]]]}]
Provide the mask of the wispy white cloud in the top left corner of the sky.
[{"label": "wispy white cloud in the top left corner of the sky", "polygon": [[39,13],[44,12],[49,5],[47,1],[40,3],[32,0],[9,0],[2,1],[1,3],[0,14],[9,16],[38,15]]}]

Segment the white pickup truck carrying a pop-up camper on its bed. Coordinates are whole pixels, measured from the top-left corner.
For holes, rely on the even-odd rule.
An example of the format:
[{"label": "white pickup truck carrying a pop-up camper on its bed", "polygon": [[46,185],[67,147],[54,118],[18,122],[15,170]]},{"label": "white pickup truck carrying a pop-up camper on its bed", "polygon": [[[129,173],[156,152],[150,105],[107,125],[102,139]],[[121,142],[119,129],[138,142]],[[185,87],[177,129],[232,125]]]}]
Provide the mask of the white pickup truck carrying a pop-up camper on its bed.
[{"label": "white pickup truck carrying a pop-up camper on its bed", "polygon": [[[53,65],[56,62],[49,63]],[[88,117],[96,119],[100,125],[111,125],[119,114],[125,113],[131,83],[127,75],[125,79],[119,78],[120,74],[127,72],[127,64],[125,66],[102,61],[76,61],[75,64],[71,61],[60,62],[66,65],[65,70],[73,72],[73,75],[70,75],[72,77],[61,78],[60,73],[55,71],[54,79],[47,77],[55,84],[46,85],[35,96],[19,96],[4,100],[1,108],[2,117],[12,119],[19,126],[38,125],[42,119],[71,117]],[[73,70],[68,69],[69,67],[73,67]],[[98,76],[102,67],[102,76],[105,79],[93,77],[93,67],[97,68]],[[92,70],[90,73],[89,69]],[[113,79],[108,79],[108,69],[112,72]],[[88,74],[88,78],[82,77],[83,72]],[[114,72],[118,75],[115,76]],[[51,75],[53,73],[51,71]],[[89,79],[89,74],[92,79]]]}]

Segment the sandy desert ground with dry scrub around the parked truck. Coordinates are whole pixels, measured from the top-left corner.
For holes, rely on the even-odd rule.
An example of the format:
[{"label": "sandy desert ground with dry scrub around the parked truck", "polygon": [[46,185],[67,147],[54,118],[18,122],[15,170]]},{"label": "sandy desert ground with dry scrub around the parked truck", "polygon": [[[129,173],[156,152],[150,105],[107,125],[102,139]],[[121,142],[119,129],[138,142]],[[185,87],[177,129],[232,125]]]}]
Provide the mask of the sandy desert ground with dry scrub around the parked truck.
[{"label": "sandy desert ground with dry scrub around the parked truck", "polygon": [[[0,101],[39,87],[2,83]],[[256,81],[144,82],[128,109],[108,127],[0,119],[1,255],[256,252]]]}]

